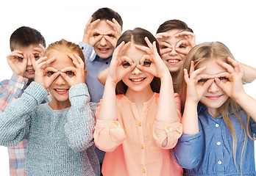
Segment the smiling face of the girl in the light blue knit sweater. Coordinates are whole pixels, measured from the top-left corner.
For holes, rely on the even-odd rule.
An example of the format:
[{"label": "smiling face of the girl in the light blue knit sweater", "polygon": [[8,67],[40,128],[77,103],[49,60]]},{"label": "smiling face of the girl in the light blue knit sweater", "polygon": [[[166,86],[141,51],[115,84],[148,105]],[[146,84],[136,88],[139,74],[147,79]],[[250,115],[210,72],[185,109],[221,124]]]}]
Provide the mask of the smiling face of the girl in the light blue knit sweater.
[{"label": "smiling face of the girl in the light blue knit sweater", "polygon": [[[68,51],[52,51],[48,58],[55,57],[56,60],[51,64],[47,65],[49,67],[54,67],[57,70],[62,70],[65,67],[75,67],[72,60],[68,57]],[[73,73],[67,73],[68,76],[74,76]],[[62,76],[58,76],[50,85],[49,92],[51,93],[51,102],[49,105],[51,108],[62,106],[67,108],[70,106],[68,91],[70,85],[65,81]]]}]

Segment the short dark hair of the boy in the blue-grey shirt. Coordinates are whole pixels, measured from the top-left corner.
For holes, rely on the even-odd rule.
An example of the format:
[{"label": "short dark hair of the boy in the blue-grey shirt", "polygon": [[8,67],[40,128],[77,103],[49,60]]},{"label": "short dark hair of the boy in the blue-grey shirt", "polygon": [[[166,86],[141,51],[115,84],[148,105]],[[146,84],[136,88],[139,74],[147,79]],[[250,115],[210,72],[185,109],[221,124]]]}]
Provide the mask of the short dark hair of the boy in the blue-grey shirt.
[{"label": "short dark hair of the boy in the blue-grey shirt", "polygon": [[110,8],[104,7],[99,10],[96,10],[96,12],[93,12],[92,17],[92,22],[98,19],[112,21],[112,19],[115,18],[115,20],[120,24],[121,29],[123,29],[123,20],[121,16],[118,14],[118,12],[115,12]]}]

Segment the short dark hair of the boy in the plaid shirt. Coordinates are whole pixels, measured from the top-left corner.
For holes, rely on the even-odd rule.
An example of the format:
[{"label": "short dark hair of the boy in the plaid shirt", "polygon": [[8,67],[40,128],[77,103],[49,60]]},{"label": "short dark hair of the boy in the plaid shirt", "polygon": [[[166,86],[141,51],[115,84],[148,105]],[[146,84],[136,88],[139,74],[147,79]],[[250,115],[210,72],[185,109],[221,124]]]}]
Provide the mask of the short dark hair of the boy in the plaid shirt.
[{"label": "short dark hair of the boy in the plaid shirt", "polygon": [[43,35],[36,29],[27,26],[22,26],[13,32],[10,36],[10,50],[13,51],[16,45],[29,46],[29,45],[43,45],[46,47],[46,40]]}]

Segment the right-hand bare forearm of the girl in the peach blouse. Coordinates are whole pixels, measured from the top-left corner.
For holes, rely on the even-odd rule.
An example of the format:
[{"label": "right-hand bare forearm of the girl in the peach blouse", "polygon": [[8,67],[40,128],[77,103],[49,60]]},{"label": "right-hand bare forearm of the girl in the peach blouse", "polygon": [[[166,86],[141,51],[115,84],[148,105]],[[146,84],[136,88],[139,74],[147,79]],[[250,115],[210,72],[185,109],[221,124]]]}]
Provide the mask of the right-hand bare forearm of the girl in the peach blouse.
[{"label": "right-hand bare forearm of the girl in the peach blouse", "polygon": [[[170,75],[170,73],[168,73]],[[173,123],[178,121],[171,76],[161,78],[160,96],[157,109],[158,122]]]}]

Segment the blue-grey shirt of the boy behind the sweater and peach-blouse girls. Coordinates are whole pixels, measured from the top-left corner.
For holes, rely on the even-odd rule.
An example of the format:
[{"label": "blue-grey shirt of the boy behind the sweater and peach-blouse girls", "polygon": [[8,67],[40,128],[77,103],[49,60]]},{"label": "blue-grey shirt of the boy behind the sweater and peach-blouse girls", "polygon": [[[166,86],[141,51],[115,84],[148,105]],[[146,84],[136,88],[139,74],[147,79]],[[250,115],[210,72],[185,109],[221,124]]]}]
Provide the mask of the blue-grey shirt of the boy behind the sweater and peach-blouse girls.
[{"label": "blue-grey shirt of the boy behind the sweater and peach-blouse girls", "polygon": [[[104,85],[99,82],[98,75],[102,70],[110,67],[112,56],[108,59],[100,58],[93,52],[93,46],[88,45],[87,43],[80,42],[79,47],[82,48],[82,52],[85,55],[85,69],[87,70],[85,83],[88,86],[90,102],[99,103],[104,92]],[[105,153],[97,147],[95,148],[95,151],[99,158],[99,162],[102,163]]]}]

